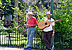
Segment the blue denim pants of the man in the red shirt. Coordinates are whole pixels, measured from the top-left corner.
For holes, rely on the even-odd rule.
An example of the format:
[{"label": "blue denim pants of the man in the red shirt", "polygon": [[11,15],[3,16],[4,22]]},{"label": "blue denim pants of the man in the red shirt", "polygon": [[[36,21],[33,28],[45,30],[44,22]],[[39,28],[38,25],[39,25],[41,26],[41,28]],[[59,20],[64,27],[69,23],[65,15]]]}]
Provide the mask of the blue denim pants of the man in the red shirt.
[{"label": "blue denim pants of the man in the red shirt", "polygon": [[27,29],[27,45],[26,48],[28,47],[32,47],[33,44],[33,36],[35,34],[36,28],[35,27],[31,27]]}]

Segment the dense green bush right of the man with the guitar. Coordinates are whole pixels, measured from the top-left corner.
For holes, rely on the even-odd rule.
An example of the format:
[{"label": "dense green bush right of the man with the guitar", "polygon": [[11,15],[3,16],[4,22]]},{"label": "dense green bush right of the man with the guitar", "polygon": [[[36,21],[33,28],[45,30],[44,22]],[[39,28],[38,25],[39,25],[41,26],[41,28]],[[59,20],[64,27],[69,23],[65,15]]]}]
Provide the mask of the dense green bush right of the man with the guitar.
[{"label": "dense green bush right of the man with the guitar", "polygon": [[[54,10],[54,18],[62,19],[61,22],[57,22],[55,24],[55,30],[59,34],[59,38],[56,36],[55,39],[59,39],[60,48],[72,48],[70,46],[70,40],[72,39],[72,2],[71,0],[67,0],[65,2],[61,1],[61,9]],[[65,5],[64,5],[65,4]],[[57,43],[57,42],[56,42]]]}]

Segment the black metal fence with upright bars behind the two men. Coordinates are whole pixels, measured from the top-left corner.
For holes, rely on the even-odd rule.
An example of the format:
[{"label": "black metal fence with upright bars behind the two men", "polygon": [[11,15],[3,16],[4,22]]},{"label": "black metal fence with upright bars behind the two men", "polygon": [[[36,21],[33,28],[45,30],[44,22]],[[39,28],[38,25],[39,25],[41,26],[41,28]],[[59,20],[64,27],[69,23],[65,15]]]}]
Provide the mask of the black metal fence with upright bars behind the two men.
[{"label": "black metal fence with upright bars behind the two men", "polygon": [[[0,46],[5,47],[26,47],[27,44],[27,34],[26,30],[16,30],[16,29],[1,29],[0,30]],[[33,48],[45,49],[45,45],[42,41],[41,31],[36,31],[33,38]]]}]

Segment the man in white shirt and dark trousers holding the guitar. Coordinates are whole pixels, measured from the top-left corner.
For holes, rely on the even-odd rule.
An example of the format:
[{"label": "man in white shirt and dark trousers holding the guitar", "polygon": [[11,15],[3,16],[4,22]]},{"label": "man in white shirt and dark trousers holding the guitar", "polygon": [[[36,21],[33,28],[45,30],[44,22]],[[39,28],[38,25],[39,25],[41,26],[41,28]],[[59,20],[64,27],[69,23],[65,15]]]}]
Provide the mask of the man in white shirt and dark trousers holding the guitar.
[{"label": "man in white shirt and dark trousers holding the guitar", "polygon": [[[50,12],[47,12],[46,13],[46,16],[47,16],[47,18],[44,20],[44,21],[49,21],[49,22],[51,22],[51,21],[54,21],[54,19],[53,18],[50,18],[50,16],[51,16],[52,14],[50,14]],[[51,23],[50,24],[50,26],[48,26],[48,27],[45,27],[44,29],[43,29],[43,41],[44,41],[44,43],[45,43],[45,45],[46,45],[46,48],[47,48],[47,50],[51,50],[51,37],[53,37],[54,36],[54,22],[53,23]],[[48,38],[47,38],[48,37]]]}]

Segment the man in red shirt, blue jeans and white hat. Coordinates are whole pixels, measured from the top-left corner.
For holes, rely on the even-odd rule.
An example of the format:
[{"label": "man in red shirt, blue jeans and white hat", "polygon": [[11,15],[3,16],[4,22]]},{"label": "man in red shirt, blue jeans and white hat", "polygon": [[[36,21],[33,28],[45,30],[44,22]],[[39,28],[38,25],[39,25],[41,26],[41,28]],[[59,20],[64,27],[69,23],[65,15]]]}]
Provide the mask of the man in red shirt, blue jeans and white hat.
[{"label": "man in red shirt, blue jeans and white hat", "polygon": [[33,43],[33,36],[35,34],[36,28],[35,26],[37,25],[37,20],[33,16],[32,12],[28,12],[28,19],[27,19],[27,45],[26,48],[24,49],[31,49],[32,48],[32,43]]}]

